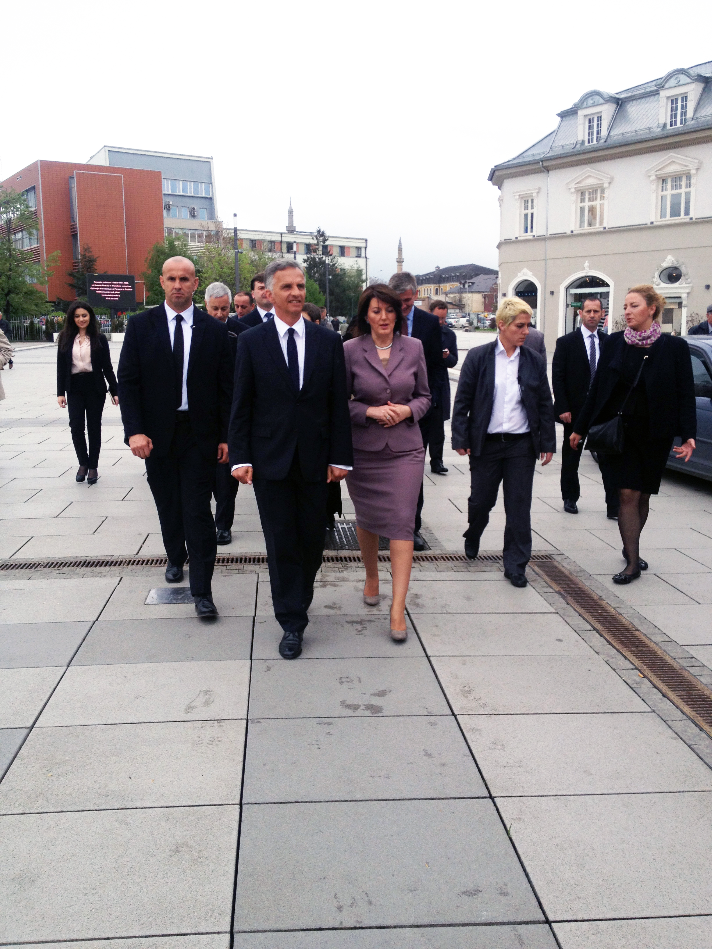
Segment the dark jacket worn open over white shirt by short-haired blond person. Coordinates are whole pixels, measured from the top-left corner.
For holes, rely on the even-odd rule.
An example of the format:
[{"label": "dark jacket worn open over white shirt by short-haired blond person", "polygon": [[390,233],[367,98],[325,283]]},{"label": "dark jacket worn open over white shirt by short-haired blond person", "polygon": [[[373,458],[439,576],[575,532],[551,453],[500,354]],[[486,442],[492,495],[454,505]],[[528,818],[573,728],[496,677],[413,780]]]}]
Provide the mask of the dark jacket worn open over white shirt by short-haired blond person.
[{"label": "dark jacket worn open over white shirt by short-haired blond person", "polygon": [[[453,448],[469,448],[482,454],[482,446],[492,418],[495,402],[495,353],[497,340],[470,349],[459,373],[458,392],[453,408]],[[524,346],[519,347],[519,390],[529,420],[534,452],[556,451],[552,391],[547,379],[547,364]]]}]

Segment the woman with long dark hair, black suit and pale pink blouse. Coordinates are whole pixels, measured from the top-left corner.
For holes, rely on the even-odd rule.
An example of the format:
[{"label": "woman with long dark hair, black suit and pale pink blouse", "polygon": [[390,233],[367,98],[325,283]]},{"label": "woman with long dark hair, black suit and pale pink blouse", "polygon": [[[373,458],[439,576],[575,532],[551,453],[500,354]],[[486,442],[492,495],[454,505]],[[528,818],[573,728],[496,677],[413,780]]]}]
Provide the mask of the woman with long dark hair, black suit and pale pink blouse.
[{"label": "woman with long dark hair, black suit and pale pink blouse", "polygon": [[[89,485],[96,484],[99,478],[107,385],[111,401],[118,405],[119,390],[109,341],[99,331],[94,310],[84,300],[75,300],[66,311],[65,328],[57,339],[57,401],[60,408],[69,409],[69,430],[79,461],[76,480],[86,479]],[[84,423],[89,436],[88,451]]]}]

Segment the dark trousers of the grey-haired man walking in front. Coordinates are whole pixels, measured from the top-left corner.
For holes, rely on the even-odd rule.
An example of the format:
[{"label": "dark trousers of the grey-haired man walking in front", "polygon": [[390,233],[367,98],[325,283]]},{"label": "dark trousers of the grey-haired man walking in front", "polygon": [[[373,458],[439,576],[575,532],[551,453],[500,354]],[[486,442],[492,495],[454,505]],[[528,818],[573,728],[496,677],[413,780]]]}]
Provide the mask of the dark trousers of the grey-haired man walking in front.
[{"label": "dark trousers of the grey-haired man walking in front", "polygon": [[305,481],[295,453],[281,481],[253,478],[254,496],[267,544],[272,605],[287,633],[304,631],[322,566],[327,530],[327,482]]}]

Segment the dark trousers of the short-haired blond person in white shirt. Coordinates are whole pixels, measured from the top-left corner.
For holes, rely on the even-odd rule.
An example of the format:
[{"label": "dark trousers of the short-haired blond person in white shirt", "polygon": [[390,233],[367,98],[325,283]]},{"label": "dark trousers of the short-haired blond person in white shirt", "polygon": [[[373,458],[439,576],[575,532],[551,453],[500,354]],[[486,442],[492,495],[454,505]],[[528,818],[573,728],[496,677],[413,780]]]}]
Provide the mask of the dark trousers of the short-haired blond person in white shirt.
[{"label": "dark trousers of the short-haired blond person in white shirt", "polygon": [[479,546],[479,538],[497,504],[499,485],[504,488],[504,569],[524,573],[532,556],[532,485],[536,456],[532,437],[511,441],[486,440],[482,454],[470,456],[468,529],[465,537]]}]

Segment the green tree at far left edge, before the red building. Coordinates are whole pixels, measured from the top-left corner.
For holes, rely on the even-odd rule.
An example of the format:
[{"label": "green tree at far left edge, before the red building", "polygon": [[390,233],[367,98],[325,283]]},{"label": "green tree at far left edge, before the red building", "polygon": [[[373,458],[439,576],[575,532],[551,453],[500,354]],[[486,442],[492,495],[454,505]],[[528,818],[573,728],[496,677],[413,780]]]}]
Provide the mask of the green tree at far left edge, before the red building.
[{"label": "green tree at far left edge, before the red building", "polygon": [[34,285],[47,285],[59,264],[59,251],[47,256],[45,267],[32,260],[37,214],[15,191],[0,190],[0,312],[6,320],[38,316],[51,307]]}]

